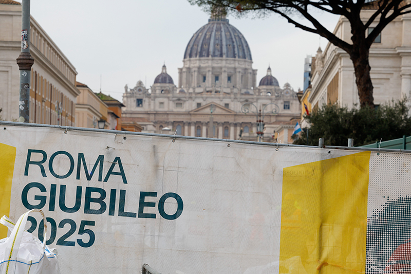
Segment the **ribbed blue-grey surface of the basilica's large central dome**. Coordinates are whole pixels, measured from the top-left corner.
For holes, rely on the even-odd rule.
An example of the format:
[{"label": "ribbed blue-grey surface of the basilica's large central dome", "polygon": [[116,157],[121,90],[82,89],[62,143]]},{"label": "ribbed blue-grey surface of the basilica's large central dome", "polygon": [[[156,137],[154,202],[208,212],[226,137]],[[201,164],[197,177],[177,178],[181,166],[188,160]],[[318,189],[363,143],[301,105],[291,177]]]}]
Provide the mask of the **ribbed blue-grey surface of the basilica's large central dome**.
[{"label": "ribbed blue-grey surface of the basilica's large central dome", "polygon": [[227,19],[209,19],[207,25],[194,33],[185,48],[184,59],[198,57],[252,60],[246,39]]}]

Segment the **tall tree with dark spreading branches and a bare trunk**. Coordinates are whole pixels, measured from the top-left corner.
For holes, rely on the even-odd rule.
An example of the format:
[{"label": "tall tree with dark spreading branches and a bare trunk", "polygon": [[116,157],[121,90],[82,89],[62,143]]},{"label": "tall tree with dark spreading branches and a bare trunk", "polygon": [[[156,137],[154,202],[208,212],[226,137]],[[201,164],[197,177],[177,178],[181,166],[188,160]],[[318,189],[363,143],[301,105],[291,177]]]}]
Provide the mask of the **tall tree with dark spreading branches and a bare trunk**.
[{"label": "tall tree with dark spreading branches and a bare trunk", "polygon": [[[250,12],[263,16],[276,13],[297,28],[323,36],[349,54],[354,66],[361,107],[366,105],[374,107],[373,86],[369,73],[371,67],[368,60],[371,44],[383,28],[396,17],[411,12],[411,2],[407,0],[189,0],[189,2],[209,12],[225,8],[239,16]],[[372,15],[365,21],[361,17],[363,9],[373,10]],[[351,26],[351,43],[327,30],[320,23],[321,14],[315,11],[345,16]],[[308,20],[309,24],[302,19]],[[366,31],[371,25],[373,30],[367,35]]]}]

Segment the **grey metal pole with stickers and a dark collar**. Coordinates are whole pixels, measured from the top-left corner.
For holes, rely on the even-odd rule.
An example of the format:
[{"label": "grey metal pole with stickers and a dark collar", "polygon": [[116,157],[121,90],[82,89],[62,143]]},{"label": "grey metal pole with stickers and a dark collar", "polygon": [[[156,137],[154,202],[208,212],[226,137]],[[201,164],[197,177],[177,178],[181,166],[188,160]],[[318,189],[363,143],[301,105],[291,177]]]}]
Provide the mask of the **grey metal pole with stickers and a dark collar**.
[{"label": "grey metal pole with stickers and a dark collar", "polygon": [[30,117],[30,75],[34,59],[30,54],[30,0],[22,2],[22,45],[16,59],[20,69],[20,99],[18,100],[18,121],[28,123]]}]

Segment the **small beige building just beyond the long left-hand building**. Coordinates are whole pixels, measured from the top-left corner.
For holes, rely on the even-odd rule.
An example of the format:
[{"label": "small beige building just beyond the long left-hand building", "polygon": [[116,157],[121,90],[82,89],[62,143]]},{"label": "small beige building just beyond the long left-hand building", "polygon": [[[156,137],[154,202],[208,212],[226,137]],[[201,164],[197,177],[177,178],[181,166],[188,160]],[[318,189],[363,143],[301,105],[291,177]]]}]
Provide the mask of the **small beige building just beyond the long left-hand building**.
[{"label": "small beige building just beyond the long left-hand building", "polygon": [[[98,129],[98,121],[107,121],[108,106],[85,84],[76,82],[80,94],[76,101],[76,126]],[[107,122],[104,128],[108,126]]]}]

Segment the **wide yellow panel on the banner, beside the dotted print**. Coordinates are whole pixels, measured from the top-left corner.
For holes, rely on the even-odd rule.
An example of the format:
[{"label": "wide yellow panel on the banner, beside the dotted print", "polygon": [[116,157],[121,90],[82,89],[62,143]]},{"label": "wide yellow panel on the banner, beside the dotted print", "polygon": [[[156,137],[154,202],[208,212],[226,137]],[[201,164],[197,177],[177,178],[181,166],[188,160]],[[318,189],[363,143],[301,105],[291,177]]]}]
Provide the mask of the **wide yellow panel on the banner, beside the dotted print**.
[{"label": "wide yellow panel on the banner, beside the dotted print", "polygon": [[369,157],[283,170],[279,273],[365,273]]}]

